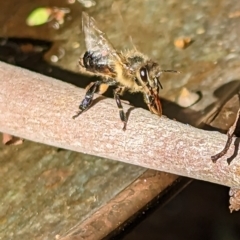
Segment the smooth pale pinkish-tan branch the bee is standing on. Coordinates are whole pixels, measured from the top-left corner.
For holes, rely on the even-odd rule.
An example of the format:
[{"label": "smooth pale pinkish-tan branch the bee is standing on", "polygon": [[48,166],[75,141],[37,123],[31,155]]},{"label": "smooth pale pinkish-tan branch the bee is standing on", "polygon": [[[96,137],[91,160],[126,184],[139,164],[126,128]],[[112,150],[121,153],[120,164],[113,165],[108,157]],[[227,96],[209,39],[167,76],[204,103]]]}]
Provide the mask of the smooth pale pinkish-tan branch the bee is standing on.
[{"label": "smooth pale pinkish-tan branch the bee is standing on", "polygon": [[[130,116],[123,131],[113,99],[98,101],[73,120],[83,89],[5,63],[0,63],[0,73],[1,132],[231,187],[240,185],[240,157],[233,145],[217,163],[211,160],[225,145],[226,135],[126,104]],[[228,165],[227,158],[234,154]]]}]

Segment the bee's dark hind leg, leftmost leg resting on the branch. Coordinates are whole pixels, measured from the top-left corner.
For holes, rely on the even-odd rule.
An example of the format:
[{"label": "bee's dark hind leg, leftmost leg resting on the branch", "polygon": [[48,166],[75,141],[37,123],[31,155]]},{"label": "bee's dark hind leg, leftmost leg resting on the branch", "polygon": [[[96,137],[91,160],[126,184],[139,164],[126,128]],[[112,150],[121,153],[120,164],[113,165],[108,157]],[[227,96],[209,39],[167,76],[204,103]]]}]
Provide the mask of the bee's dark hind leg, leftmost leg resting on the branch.
[{"label": "bee's dark hind leg, leftmost leg resting on the branch", "polygon": [[91,106],[91,103],[93,100],[93,95],[98,90],[101,83],[102,83],[102,81],[91,82],[87,86],[86,95],[85,95],[84,99],[82,100],[81,104],[79,105],[80,111],[78,111],[77,114],[72,117],[73,119],[77,118],[81,113],[86,111]]}]

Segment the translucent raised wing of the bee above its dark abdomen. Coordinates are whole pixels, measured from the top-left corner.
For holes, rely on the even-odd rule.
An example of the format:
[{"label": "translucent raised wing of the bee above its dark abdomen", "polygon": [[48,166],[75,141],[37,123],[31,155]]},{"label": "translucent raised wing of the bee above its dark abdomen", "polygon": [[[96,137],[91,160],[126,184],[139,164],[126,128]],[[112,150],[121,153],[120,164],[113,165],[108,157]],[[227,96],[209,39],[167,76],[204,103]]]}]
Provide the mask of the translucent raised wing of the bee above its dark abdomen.
[{"label": "translucent raised wing of the bee above its dark abdomen", "polygon": [[102,56],[120,61],[120,56],[106,39],[105,34],[96,26],[94,18],[82,13],[82,29],[85,35],[85,44],[88,51],[100,52]]}]

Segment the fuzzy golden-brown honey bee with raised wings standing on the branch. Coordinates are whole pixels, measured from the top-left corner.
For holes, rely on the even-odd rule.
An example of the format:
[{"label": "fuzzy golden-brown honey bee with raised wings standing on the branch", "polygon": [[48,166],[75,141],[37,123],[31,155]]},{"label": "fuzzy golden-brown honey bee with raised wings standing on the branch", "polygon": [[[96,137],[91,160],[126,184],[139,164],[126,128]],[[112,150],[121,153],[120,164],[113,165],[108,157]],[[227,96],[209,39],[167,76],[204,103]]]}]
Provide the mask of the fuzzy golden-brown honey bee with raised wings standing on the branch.
[{"label": "fuzzy golden-brown honey bee with raised wings standing on the branch", "polygon": [[95,20],[87,13],[82,13],[82,29],[87,51],[80,59],[80,68],[100,77],[86,88],[85,98],[79,105],[79,111],[73,119],[86,111],[92,103],[94,93],[103,94],[109,86],[114,88],[114,98],[119,109],[123,130],[126,129],[127,118],[123,111],[120,96],[128,90],[131,93],[141,92],[149,110],[161,116],[162,107],[159,90],[162,88],[160,66],[137,51],[117,52],[107,40],[105,34],[96,26]]}]

